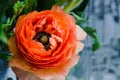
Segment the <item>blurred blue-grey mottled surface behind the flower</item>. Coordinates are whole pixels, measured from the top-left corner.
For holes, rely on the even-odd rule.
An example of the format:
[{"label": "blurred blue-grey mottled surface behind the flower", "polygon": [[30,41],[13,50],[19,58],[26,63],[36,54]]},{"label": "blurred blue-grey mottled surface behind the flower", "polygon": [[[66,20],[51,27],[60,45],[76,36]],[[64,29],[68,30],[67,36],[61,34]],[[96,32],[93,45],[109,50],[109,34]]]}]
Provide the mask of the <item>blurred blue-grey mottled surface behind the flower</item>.
[{"label": "blurred blue-grey mottled surface behind the flower", "polygon": [[[84,13],[86,25],[97,29],[102,47],[93,52],[93,40],[87,37],[81,59],[66,80],[120,80],[120,0],[89,0]],[[0,80],[16,80],[2,60],[0,75]]]}]

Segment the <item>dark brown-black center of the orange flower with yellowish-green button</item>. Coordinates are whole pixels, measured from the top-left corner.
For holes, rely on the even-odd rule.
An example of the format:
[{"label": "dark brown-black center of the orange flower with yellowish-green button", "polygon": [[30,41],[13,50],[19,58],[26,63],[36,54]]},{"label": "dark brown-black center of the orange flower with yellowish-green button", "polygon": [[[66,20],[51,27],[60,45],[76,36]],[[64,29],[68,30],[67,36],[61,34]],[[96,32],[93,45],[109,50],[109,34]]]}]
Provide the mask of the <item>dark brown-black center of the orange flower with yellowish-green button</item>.
[{"label": "dark brown-black center of the orange flower with yellowish-green button", "polygon": [[36,41],[42,43],[42,45],[44,46],[44,48],[47,50],[50,49],[50,43],[49,43],[49,39],[50,39],[51,35],[49,33],[46,32],[39,32],[38,34],[36,34],[34,36],[33,39],[35,39]]}]

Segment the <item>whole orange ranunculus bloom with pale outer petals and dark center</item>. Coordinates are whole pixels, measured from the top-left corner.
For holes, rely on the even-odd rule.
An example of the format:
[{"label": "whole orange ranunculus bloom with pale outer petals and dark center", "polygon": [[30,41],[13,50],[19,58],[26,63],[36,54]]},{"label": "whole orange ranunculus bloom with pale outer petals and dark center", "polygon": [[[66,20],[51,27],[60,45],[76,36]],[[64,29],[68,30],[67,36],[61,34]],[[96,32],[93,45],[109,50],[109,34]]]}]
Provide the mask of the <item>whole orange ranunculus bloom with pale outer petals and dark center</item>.
[{"label": "whole orange ranunculus bloom with pale outer petals and dark center", "polygon": [[9,65],[20,80],[64,80],[78,62],[86,33],[60,7],[19,17]]}]

